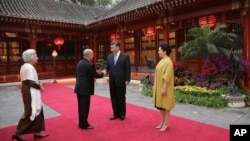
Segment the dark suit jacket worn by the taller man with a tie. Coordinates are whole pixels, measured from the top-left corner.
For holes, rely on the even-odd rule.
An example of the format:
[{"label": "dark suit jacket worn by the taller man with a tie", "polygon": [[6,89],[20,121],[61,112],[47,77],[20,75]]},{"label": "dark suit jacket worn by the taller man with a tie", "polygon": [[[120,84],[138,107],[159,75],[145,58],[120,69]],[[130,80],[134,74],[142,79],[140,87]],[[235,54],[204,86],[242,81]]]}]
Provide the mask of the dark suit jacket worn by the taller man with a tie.
[{"label": "dark suit jacket worn by the taller man with a tie", "polygon": [[114,54],[110,54],[107,59],[107,72],[109,73],[109,84],[118,87],[125,87],[125,81],[130,81],[131,66],[129,56],[120,53],[116,65],[114,65]]}]

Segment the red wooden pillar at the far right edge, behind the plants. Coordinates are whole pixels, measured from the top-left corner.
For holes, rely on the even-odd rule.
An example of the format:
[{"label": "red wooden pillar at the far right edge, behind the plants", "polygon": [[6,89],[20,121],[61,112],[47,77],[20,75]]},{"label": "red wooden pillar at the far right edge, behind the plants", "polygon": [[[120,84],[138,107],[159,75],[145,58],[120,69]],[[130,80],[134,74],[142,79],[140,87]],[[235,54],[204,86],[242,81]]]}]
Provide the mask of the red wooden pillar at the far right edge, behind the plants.
[{"label": "red wooden pillar at the far right edge, behind the plants", "polygon": [[[247,7],[243,11],[243,55],[250,61],[250,7]],[[244,86],[250,88],[250,70],[246,72],[246,77],[244,80]]]}]

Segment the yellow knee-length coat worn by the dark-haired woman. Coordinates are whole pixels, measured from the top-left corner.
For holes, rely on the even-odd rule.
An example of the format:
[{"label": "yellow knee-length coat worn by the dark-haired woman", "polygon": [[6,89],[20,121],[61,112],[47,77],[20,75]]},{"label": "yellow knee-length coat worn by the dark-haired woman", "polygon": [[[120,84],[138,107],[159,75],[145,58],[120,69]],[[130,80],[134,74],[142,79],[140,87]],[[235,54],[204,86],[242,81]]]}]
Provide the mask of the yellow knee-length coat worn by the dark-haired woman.
[{"label": "yellow knee-length coat worn by the dark-haired woman", "polygon": [[[164,82],[167,81],[165,96],[161,95]],[[170,57],[161,59],[156,66],[152,101],[156,108],[171,110],[175,106],[174,68]]]}]

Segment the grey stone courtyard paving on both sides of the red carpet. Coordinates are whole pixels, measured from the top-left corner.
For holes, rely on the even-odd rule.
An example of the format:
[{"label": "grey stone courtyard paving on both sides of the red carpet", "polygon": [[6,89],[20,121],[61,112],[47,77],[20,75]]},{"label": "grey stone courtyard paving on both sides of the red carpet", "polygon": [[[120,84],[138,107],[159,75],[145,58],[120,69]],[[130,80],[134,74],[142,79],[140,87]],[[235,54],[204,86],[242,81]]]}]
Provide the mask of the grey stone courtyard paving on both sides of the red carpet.
[{"label": "grey stone courtyard paving on both sides of the red carpet", "polygon": [[[58,82],[60,83],[60,80]],[[51,83],[51,80],[43,80],[43,83]],[[22,114],[21,94],[16,85],[20,85],[20,83],[0,84],[0,128],[16,125]],[[67,87],[73,88],[74,85],[67,85]],[[95,93],[109,98],[108,84],[97,81]],[[151,97],[143,96],[140,93],[137,81],[132,81],[128,85],[126,101],[156,110],[151,102]],[[46,118],[60,115],[47,105],[44,105],[44,111]],[[250,125],[250,107],[215,109],[177,103],[171,114],[226,129],[229,129],[230,124]]]}]

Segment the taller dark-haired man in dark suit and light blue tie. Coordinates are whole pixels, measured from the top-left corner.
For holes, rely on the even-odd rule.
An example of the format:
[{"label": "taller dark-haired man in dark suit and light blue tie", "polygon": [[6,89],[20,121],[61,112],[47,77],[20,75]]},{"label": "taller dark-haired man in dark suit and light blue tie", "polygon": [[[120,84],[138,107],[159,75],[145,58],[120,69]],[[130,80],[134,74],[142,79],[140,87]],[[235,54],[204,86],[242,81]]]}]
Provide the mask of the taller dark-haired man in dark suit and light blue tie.
[{"label": "taller dark-haired man in dark suit and light blue tie", "polygon": [[111,42],[112,54],[108,56],[106,70],[109,73],[110,98],[113,115],[110,120],[126,116],[126,86],[130,82],[130,59],[129,56],[120,51],[118,41]]}]

